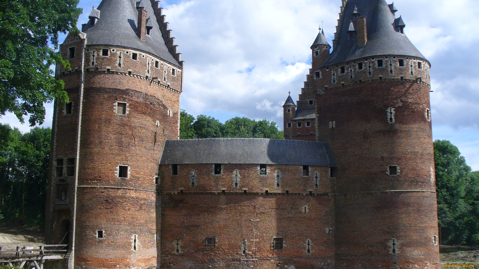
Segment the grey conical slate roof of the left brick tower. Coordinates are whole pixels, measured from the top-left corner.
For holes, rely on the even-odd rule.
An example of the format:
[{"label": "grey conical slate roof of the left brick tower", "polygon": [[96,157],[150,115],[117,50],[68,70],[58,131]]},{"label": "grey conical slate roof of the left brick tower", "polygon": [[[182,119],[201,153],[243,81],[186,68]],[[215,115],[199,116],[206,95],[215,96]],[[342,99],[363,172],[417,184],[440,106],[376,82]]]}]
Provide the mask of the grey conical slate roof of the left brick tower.
[{"label": "grey conical slate roof of the left brick tower", "polygon": [[88,45],[131,47],[146,51],[173,65],[180,66],[165,45],[151,2],[143,1],[142,3],[148,12],[147,16],[152,18],[151,25],[153,26],[145,41],[140,40],[136,34],[138,11],[135,0],[102,0],[98,6],[101,18],[97,20],[95,25],[90,25],[90,22],[88,22],[82,30],[86,34]]}]

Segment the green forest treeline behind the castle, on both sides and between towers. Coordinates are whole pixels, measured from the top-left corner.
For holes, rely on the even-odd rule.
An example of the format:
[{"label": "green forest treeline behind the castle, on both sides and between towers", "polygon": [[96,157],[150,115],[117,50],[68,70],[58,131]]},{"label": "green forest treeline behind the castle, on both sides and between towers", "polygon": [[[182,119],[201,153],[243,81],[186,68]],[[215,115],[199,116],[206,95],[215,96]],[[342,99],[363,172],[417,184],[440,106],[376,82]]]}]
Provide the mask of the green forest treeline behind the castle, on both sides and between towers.
[{"label": "green forest treeline behind the castle, on both sides and between towers", "polygon": [[[44,223],[51,129],[35,127],[22,134],[1,124],[0,222]],[[205,115],[181,112],[182,139],[210,137],[283,138],[276,123],[232,118],[224,124]],[[441,244],[479,245],[479,171],[472,172],[456,146],[434,141]]]}]

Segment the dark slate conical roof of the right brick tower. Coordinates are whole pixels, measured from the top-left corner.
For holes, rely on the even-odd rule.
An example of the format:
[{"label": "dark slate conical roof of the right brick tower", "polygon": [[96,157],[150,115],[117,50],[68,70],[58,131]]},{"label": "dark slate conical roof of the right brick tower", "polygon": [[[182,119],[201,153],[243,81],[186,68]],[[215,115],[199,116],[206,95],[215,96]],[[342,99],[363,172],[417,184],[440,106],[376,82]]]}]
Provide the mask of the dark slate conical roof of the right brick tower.
[{"label": "dark slate conical roof of the right brick tower", "polygon": [[[336,27],[337,33],[333,41],[331,56],[323,66],[351,61],[357,58],[376,55],[404,55],[425,59],[412,45],[405,34],[400,34],[395,27],[394,11],[385,0],[343,0],[342,12]],[[351,21],[355,25],[354,8],[357,7],[359,16],[366,17],[367,42],[364,46],[357,45],[357,37],[349,40],[349,26]]]}]

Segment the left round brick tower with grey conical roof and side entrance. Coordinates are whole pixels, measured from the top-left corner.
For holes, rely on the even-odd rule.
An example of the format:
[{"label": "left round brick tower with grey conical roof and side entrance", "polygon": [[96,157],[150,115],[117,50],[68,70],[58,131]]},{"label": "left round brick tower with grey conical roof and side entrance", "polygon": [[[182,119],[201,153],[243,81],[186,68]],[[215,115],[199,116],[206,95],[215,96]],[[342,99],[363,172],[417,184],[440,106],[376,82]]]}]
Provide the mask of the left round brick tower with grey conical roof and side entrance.
[{"label": "left round brick tower with grey conical roof and side entrance", "polygon": [[[158,162],[178,139],[182,67],[159,1],[103,0],[57,67],[46,239],[68,268],[151,268],[159,257]],[[157,244],[158,242],[158,244]]]}]

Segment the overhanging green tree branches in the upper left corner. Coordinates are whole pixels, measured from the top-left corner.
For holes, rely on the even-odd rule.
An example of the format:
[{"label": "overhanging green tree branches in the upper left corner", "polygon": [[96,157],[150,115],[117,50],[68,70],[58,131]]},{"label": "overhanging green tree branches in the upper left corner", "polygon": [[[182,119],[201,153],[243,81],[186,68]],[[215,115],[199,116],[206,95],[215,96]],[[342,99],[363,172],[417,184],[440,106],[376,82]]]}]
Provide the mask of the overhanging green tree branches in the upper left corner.
[{"label": "overhanging green tree branches in the upper left corner", "polygon": [[[76,28],[81,9],[79,0],[0,1],[0,115],[14,113],[23,123],[30,114],[30,126],[45,120],[45,102],[68,102],[64,82],[55,79],[50,66],[69,68],[54,49],[58,32]],[[48,46],[50,42],[54,48]]]}]

